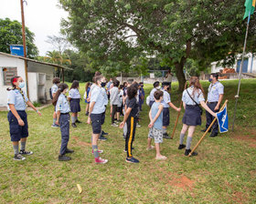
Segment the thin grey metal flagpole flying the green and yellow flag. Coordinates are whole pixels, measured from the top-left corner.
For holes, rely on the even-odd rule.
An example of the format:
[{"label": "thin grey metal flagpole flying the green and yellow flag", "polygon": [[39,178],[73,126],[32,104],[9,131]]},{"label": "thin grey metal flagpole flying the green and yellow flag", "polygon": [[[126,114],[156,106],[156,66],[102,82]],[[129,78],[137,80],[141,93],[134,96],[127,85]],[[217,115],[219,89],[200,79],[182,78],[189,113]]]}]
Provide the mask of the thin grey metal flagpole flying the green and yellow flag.
[{"label": "thin grey metal flagpole flying the green and yellow flag", "polygon": [[[250,16],[251,16],[251,12],[249,11],[248,21],[247,21],[247,28],[246,28],[246,34],[245,34],[244,45],[243,45],[243,51],[242,51],[242,57],[241,57],[241,63],[240,63],[240,75],[239,75],[239,79],[241,79],[241,69],[242,69],[242,66],[243,66],[243,59],[244,59],[244,56],[245,56],[245,49],[246,49],[247,36],[248,36],[248,30],[249,30]],[[235,120],[236,120],[236,113],[237,113],[237,106],[238,106],[239,97],[240,97],[240,80],[239,80],[238,93],[237,93],[237,95],[235,96],[235,98],[236,98],[236,104],[235,104],[235,109],[234,109],[234,114],[233,114],[232,131],[234,131],[234,125],[235,125]]]}]

